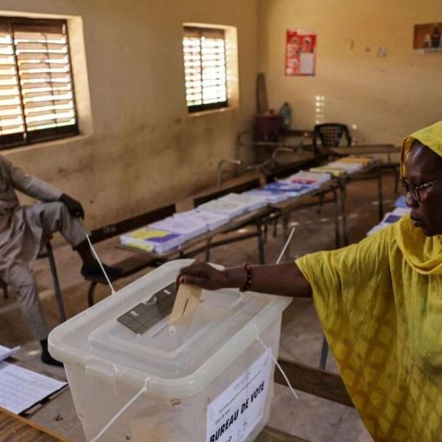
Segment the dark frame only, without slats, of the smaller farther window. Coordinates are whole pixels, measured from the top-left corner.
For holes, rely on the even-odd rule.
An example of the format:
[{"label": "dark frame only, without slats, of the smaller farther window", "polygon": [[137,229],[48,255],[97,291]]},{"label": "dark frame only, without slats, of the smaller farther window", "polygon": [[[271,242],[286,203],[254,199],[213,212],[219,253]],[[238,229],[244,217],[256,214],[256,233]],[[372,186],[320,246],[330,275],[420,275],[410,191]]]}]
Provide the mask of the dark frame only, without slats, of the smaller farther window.
[{"label": "dark frame only, without slats, of the smaller farther window", "polygon": [[[208,26],[204,26],[204,25],[190,26],[190,25],[184,24],[183,25],[183,43],[184,43],[184,40],[186,37],[190,38],[190,37],[195,37],[195,36],[198,36],[198,38],[200,38],[200,48],[201,48],[201,39],[202,39],[202,37],[205,37],[205,36],[207,36],[208,38],[210,38],[210,37],[213,38],[214,36],[217,38],[222,37],[222,40],[224,41],[224,76],[225,76],[225,96],[226,96],[226,99],[225,99],[225,101],[217,101],[215,103],[201,103],[201,104],[189,106],[187,104],[187,86],[185,85],[187,111],[188,111],[188,113],[192,114],[192,113],[199,113],[199,112],[204,112],[204,111],[214,111],[217,109],[229,108],[230,102],[229,102],[229,82],[228,82],[228,78],[227,78],[228,67],[227,67],[227,50],[226,50],[226,46],[227,46],[226,30],[223,28],[218,28],[218,27],[214,28],[214,27],[208,27]],[[184,52],[183,52],[183,56],[185,56]],[[200,56],[202,56],[201,49],[200,49]],[[201,75],[202,75],[203,67],[202,67],[202,59],[201,58],[200,58],[200,69],[201,69]],[[185,66],[184,66],[184,70],[185,70],[185,77],[186,77]],[[185,80],[185,82],[186,82],[186,80]],[[203,91],[203,88],[201,89],[201,91]]]}]

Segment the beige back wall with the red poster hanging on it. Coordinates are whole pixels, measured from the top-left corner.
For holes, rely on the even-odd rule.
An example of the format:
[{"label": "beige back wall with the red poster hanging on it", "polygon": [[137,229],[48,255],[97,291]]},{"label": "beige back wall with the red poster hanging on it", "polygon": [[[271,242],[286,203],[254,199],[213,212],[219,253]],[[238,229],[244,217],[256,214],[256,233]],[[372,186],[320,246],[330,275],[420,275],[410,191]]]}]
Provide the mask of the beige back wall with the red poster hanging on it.
[{"label": "beige back wall with the red poster hanging on it", "polygon": [[[356,143],[400,143],[442,119],[442,55],[412,53],[413,26],[442,21],[440,0],[259,0],[259,70],[269,106],[289,101],[292,127],[312,128],[315,97],[324,122],[356,125]],[[317,31],[317,73],[284,76],[285,32]],[[388,55],[377,56],[379,47]]]}]

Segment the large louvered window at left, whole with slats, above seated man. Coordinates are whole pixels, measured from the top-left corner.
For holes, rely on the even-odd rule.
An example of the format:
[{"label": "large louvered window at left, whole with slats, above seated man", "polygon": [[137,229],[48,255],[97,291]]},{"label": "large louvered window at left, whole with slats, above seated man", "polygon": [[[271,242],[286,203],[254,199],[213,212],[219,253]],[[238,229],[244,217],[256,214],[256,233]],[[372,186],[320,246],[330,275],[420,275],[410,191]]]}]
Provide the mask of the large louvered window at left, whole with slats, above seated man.
[{"label": "large louvered window at left, whole with slats, above seated man", "polygon": [[0,17],[0,149],[78,135],[66,21]]}]

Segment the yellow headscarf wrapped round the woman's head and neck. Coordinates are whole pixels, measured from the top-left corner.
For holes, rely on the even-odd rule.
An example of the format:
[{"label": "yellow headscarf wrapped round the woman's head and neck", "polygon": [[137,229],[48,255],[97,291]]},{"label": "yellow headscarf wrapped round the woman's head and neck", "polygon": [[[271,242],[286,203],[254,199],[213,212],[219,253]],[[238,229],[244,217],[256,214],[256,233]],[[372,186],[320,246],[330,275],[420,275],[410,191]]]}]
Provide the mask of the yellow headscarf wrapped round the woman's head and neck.
[{"label": "yellow headscarf wrapped round the woman's head and neck", "polygon": [[[442,121],[404,138],[401,150],[401,175],[405,176],[405,158],[415,141],[428,146],[442,157]],[[442,220],[441,220],[442,222]],[[396,225],[396,241],[408,264],[421,274],[442,274],[442,235],[425,237],[413,227],[409,217]]]}]

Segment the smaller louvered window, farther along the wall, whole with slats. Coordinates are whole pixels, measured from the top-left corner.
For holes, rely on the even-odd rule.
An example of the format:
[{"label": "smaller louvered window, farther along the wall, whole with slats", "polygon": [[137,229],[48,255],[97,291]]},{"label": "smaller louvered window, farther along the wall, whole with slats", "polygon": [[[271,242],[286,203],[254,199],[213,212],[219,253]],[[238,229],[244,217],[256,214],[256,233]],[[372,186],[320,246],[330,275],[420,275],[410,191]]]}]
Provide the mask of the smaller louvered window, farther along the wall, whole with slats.
[{"label": "smaller louvered window, farther along the wall, whole with slats", "polygon": [[189,112],[225,108],[225,31],[184,27],[185,91]]}]

